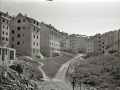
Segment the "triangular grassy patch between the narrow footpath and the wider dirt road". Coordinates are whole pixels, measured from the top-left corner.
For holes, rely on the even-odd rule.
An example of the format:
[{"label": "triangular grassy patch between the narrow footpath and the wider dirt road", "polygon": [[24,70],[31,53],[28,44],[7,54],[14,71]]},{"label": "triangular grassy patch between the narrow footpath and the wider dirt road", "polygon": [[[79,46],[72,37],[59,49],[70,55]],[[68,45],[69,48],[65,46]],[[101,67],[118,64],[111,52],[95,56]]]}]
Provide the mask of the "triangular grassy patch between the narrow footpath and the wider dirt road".
[{"label": "triangular grassy patch between the narrow footpath and the wider dirt road", "polygon": [[45,60],[42,60],[40,58],[35,59],[44,64],[42,66],[43,71],[48,77],[53,78],[57,71],[59,70],[59,68],[61,67],[61,65],[69,61],[73,57],[74,57],[73,54],[62,53],[61,56],[46,57]]}]

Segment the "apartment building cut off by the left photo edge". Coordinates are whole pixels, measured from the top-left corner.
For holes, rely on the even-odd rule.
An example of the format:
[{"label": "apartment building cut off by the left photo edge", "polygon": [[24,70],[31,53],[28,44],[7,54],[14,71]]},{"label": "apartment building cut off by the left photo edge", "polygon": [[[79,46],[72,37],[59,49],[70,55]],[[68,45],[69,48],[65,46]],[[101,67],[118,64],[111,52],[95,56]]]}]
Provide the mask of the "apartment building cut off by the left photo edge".
[{"label": "apartment building cut off by the left photo edge", "polygon": [[8,24],[13,19],[12,16],[8,15],[8,12],[0,12],[0,41],[9,43],[9,31],[10,27]]}]

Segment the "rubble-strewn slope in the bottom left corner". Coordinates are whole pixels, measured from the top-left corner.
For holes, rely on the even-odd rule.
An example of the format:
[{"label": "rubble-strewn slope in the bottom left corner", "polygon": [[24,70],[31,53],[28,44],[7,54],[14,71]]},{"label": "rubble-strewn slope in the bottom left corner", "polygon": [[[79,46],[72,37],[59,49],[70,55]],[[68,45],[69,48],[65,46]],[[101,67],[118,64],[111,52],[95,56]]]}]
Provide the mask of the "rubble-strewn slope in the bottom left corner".
[{"label": "rubble-strewn slope in the bottom left corner", "polygon": [[0,66],[0,90],[38,90],[38,87],[16,71]]}]

